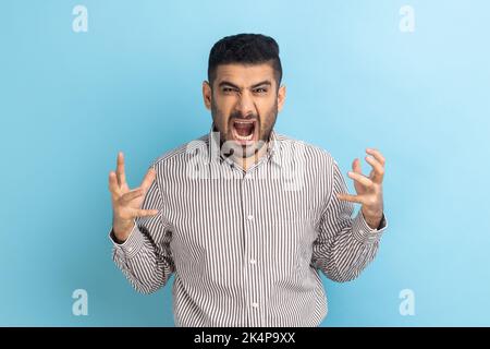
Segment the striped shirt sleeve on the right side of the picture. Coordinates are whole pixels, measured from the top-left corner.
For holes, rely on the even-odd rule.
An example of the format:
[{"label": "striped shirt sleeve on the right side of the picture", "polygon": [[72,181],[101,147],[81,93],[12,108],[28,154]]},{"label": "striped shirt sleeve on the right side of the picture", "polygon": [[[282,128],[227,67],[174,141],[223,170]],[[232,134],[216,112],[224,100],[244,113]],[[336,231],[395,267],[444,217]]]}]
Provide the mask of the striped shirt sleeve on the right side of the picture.
[{"label": "striped shirt sleeve on the right side of the picture", "polygon": [[388,224],[383,214],[378,229],[371,229],[360,209],[353,218],[354,205],[336,197],[338,193],[346,193],[347,186],[335,161],[332,171],[332,190],[313,245],[311,265],[329,279],[345,282],[358,277],[375,258]]}]

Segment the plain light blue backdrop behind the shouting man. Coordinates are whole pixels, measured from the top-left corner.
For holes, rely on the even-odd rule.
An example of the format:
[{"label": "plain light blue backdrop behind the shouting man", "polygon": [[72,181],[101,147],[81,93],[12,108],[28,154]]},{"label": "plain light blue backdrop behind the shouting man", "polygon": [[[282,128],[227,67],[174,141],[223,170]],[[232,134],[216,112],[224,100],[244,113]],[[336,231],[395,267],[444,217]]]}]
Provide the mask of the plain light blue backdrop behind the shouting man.
[{"label": "plain light blue backdrop behind the shouting man", "polygon": [[[87,33],[72,31],[76,4]],[[399,28],[404,4],[414,33]],[[281,47],[279,132],[328,149],[344,173],[367,146],[388,160],[389,231],[357,280],[323,278],[322,325],[490,325],[488,1],[0,8],[0,325],[173,326],[171,285],[138,294],[111,261],[108,173],[122,149],[135,186],[209,130],[209,49],[243,32]],[[78,288],[88,316],[72,314]],[[406,288],[414,316],[399,312]]]}]

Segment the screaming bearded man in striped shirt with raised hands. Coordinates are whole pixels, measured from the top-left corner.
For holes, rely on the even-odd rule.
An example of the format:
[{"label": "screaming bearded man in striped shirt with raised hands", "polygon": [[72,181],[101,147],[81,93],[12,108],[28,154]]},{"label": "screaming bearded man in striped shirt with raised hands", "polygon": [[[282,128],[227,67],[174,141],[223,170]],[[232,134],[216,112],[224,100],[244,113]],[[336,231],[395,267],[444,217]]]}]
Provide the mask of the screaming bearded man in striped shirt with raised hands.
[{"label": "screaming bearded man in striped shirt with raised hands", "polygon": [[203,83],[209,134],[157,159],[137,189],[122,153],[109,176],[114,261],[145,293],[174,274],[177,326],[318,326],[319,270],[352,280],[378,250],[383,156],[366,151],[369,176],[354,160],[357,195],[347,194],[327,152],[273,131],[281,77],[272,38],[224,37]]}]

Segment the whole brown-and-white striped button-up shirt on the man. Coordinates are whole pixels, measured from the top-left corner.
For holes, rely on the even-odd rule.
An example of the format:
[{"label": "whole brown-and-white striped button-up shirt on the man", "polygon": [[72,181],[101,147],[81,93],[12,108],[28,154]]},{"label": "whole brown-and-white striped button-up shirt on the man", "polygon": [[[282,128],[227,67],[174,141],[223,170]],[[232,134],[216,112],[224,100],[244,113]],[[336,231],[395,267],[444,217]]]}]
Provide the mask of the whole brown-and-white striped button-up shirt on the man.
[{"label": "whole brown-and-white striped button-up shirt on the man", "polygon": [[373,260],[387,228],[371,229],[335,193],[346,184],[326,151],[271,132],[243,170],[219,133],[159,157],[157,178],[113,260],[150,293],[171,275],[176,326],[318,326],[328,312],[321,270],[348,281]]}]

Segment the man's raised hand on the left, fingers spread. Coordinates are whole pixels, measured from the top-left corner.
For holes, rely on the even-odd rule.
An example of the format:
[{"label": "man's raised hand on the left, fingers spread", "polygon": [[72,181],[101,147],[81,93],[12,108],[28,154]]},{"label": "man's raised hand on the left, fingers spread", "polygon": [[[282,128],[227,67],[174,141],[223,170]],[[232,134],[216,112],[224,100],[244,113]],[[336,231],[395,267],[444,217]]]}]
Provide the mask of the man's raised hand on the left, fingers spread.
[{"label": "man's raised hand on the left, fingers spread", "polygon": [[126,241],[137,217],[149,217],[158,214],[158,209],[142,209],[143,200],[156,178],[156,171],[150,168],[142,184],[130,190],[124,173],[124,155],[118,154],[115,172],[109,173],[109,190],[112,196],[112,231],[119,242]]}]

